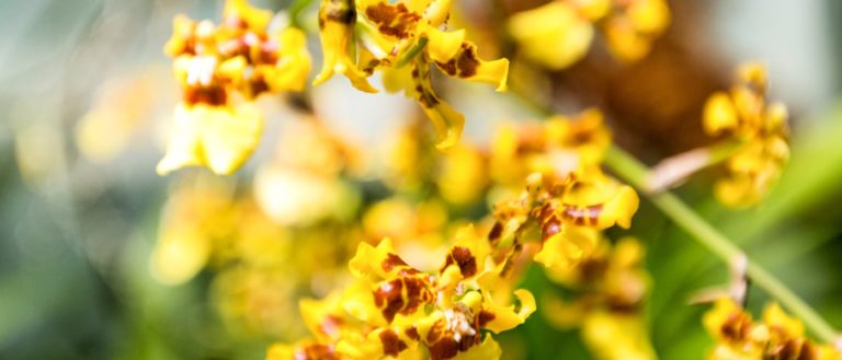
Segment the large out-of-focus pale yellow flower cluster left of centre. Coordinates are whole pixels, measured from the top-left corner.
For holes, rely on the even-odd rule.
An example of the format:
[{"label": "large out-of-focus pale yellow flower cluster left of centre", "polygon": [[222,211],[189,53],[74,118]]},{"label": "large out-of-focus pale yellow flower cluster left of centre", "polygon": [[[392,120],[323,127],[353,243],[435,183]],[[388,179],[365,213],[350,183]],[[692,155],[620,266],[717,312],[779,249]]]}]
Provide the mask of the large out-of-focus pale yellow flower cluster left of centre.
[{"label": "large out-of-focus pale yellow flower cluster left of centre", "polygon": [[341,287],[364,237],[348,221],[359,210],[357,189],[345,181],[351,151],[311,119],[289,123],[282,151],[251,186],[203,173],[180,177],[152,253],[162,283],[213,270],[214,303],[246,336],[300,336],[300,321],[291,320],[297,299]]}]

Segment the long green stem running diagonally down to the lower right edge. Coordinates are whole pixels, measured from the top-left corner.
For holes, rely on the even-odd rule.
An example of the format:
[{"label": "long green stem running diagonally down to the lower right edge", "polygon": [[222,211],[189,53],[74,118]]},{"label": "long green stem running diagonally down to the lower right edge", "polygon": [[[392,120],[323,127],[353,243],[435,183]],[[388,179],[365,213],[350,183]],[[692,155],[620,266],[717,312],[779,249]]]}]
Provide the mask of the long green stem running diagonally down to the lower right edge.
[{"label": "long green stem running diagonally down to the lower right edge", "polygon": [[[632,186],[638,189],[646,188],[649,170],[624,150],[617,147],[608,149],[605,163]],[[729,265],[744,256],[744,253],[737,245],[702,219],[674,194],[664,191],[648,195],[648,198],[676,225],[684,229],[699,244],[707,247]],[[789,290],[789,288],[762,266],[748,260],[748,275],[754,284],[777,299],[784,307],[800,318],[819,340],[826,344],[833,344],[838,339],[839,334],[816,310],[810,307],[809,304],[798,298],[795,292]]]}]

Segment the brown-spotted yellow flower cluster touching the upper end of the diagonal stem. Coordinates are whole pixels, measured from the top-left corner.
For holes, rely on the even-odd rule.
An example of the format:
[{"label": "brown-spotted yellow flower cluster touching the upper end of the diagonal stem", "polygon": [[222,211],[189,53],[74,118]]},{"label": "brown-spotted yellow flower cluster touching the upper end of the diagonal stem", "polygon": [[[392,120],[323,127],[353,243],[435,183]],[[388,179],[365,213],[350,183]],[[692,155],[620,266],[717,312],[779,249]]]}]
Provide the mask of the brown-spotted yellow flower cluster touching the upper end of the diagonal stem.
[{"label": "brown-spotted yellow flower cluster touching the upper end of the diagonal stem", "polygon": [[639,199],[632,187],[600,170],[610,143],[598,111],[582,113],[574,123],[558,116],[520,136],[504,128],[494,142],[492,165],[500,175],[525,173],[526,189],[494,205],[497,223],[489,240],[517,244],[537,227],[542,249],[535,260],[567,268],[591,255],[601,230],[629,228]]}]

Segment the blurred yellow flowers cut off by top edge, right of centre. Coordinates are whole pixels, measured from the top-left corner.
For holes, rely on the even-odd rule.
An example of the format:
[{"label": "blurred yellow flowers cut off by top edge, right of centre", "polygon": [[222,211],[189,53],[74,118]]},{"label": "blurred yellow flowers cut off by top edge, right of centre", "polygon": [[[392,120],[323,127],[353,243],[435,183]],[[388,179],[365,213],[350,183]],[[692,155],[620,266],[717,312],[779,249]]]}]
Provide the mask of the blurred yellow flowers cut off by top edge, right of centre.
[{"label": "blurred yellow flowers cut off by top edge, right of centre", "polygon": [[616,57],[634,61],[649,53],[669,24],[664,0],[554,0],[509,20],[523,55],[555,70],[588,54],[594,27]]}]

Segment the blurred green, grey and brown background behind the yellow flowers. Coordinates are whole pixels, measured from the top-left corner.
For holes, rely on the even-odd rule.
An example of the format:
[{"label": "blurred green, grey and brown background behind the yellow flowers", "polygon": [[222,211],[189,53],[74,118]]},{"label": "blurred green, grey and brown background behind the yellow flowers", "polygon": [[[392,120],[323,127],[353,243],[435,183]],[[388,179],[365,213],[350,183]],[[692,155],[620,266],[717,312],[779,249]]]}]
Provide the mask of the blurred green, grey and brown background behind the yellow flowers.
[{"label": "blurred green, grey and brown background behind the yellow flowers", "polygon": [[[253,3],[275,11],[291,5]],[[516,12],[541,1],[501,3]],[[482,9],[483,2],[462,5]],[[272,340],[299,335],[299,292],[261,298],[282,299],[283,312],[261,317],[281,329],[261,332],[266,324],[260,323],[243,330],[237,311],[218,300],[226,283],[217,277],[221,271],[192,269],[173,279],[156,275],[151,260],[167,228],[163,209],[179,212],[171,210],[178,206],[166,208],[168,199],[185,176],[205,172],[155,173],[179,98],[161,48],[174,15],[218,21],[221,7],[0,0],[0,359],[262,359]],[[771,98],[785,102],[793,115],[793,160],[780,185],[763,206],[740,211],[712,199],[713,171],[679,194],[842,328],[842,4],[708,0],[670,7],[673,23],[648,57],[622,63],[595,45],[582,61],[549,73],[536,88],[536,101],[560,113],[603,108],[618,144],[653,164],[708,143],[699,120],[707,95],[729,86],[737,63],[766,63]],[[307,8],[300,18],[315,23],[314,11]],[[482,18],[487,12],[465,13],[476,13],[478,19],[465,19],[480,31],[494,26]],[[310,39],[318,65],[318,42]],[[448,90],[446,97],[467,116],[466,141],[487,142],[491,125],[537,116],[522,103],[494,100],[485,88]],[[238,182],[250,181],[258,164],[275,159],[284,118],[301,116],[286,102],[266,103],[271,115],[261,148],[223,187],[241,188]],[[372,140],[410,124],[406,114],[413,106],[400,95],[353,92],[344,80],[312,90],[316,114],[342,141],[363,149],[356,159],[372,159],[363,161],[364,169],[376,169],[383,158],[374,154],[383,149]],[[354,183],[363,190],[341,197],[343,204],[385,197],[384,186],[366,176]],[[486,209],[452,213],[470,218]],[[645,224],[630,234],[647,247],[653,282],[647,324],[655,349],[662,359],[702,359],[713,344],[699,323],[705,307],[690,306],[687,299],[725,283],[728,271],[646,201],[635,222]],[[305,294],[323,288],[299,280],[309,283]],[[273,281],[284,287],[285,280]],[[539,269],[528,272],[525,286],[536,298],[550,287]],[[751,309],[766,300],[762,291],[750,291]],[[576,332],[551,327],[541,316],[501,341],[513,359],[590,358]]]}]

